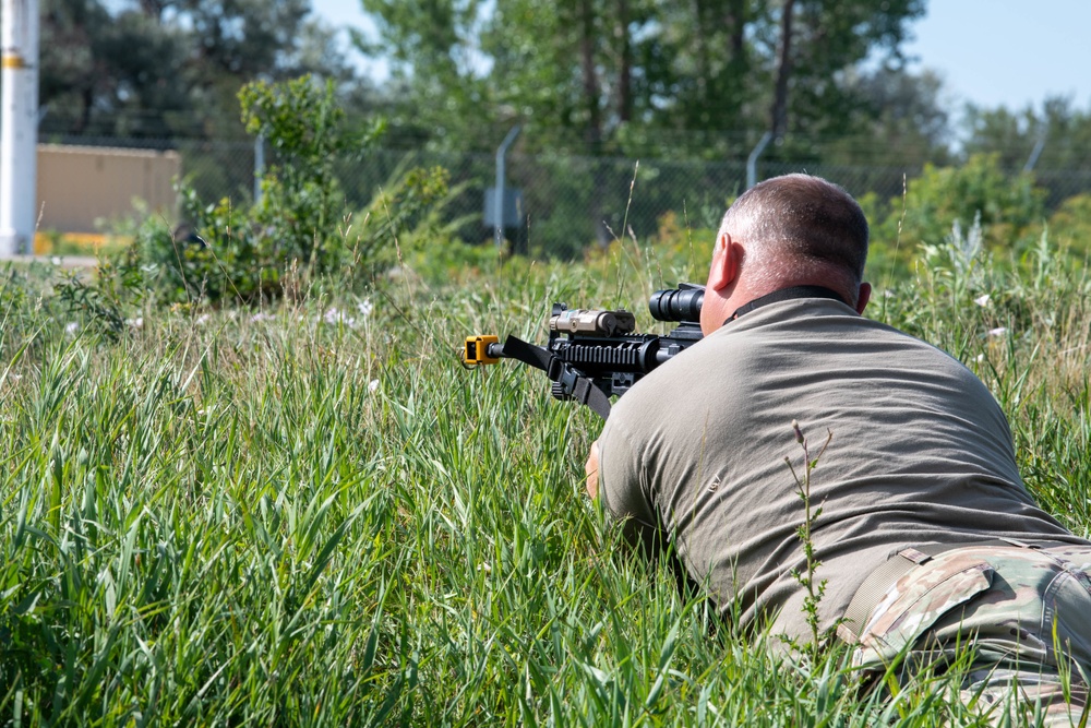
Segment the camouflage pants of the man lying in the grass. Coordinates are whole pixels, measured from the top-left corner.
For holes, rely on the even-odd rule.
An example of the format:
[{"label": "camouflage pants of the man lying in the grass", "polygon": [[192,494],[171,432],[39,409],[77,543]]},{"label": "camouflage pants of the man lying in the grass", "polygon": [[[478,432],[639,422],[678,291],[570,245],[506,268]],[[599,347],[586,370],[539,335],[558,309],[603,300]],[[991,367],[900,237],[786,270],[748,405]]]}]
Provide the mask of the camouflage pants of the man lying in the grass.
[{"label": "camouflage pants of the man lying in the grass", "polygon": [[961,699],[997,725],[1020,725],[1019,715],[1079,725],[1091,678],[1091,546],[974,546],[914,566],[879,600],[853,653],[865,671],[895,664],[961,666]]}]

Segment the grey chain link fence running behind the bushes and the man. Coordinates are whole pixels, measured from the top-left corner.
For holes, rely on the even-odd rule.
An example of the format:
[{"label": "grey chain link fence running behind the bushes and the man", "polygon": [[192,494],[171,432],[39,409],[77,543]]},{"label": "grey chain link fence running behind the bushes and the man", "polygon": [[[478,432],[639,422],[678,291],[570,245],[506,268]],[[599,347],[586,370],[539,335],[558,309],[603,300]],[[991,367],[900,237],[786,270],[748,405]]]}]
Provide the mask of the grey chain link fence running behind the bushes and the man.
[{"label": "grey chain link fence running behind the bushes and the man", "polygon": [[[124,140],[92,142],[135,146]],[[88,140],[73,143],[86,145]],[[156,147],[143,140],[141,146]],[[167,147],[181,155],[182,174],[200,199],[211,203],[230,198],[239,204],[253,199],[253,141],[173,140],[158,148]],[[393,187],[408,169],[434,166],[449,172],[453,190],[443,210],[444,219],[458,220],[456,232],[467,241],[491,241],[493,228],[485,224],[484,208],[485,195],[495,184],[496,158],[492,154],[369,151],[337,165],[346,208],[362,210],[380,189]],[[855,196],[873,192],[889,200],[899,196],[906,180],[918,177],[922,168],[766,162],[758,164],[757,178],[805,171],[834,180]],[[1036,169],[1034,175],[1046,191],[1047,212],[1070,196],[1091,192],[1091,169]],[[518,191],[520,223],[505,229],[506,238],[519,251],[564,258],[615,237],[645,240],[656,234],[668,213],[690,228],[715,229],[727,203],[746,187],[746,163],[513,153],[506,158],[505,183]]]}]

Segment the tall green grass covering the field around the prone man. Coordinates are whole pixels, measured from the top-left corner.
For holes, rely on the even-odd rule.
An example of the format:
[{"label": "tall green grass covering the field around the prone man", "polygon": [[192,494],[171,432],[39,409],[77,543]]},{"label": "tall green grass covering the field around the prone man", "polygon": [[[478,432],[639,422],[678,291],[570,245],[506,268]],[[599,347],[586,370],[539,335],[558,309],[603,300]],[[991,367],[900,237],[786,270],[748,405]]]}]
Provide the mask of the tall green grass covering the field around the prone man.
[{"label": "tall green grass covering the field around the prone man", "polygon": [[[871,313],[986,381],[1029,487],[1087,535],[1088,281],[1035,255],[923,251]],[[9,270],[0,721],[980,723],[943,677],[868,693],[843,648],[791,660],[716,625],[584,496],[595,416],[540,372],[459,366],[467,333],[542,339],[553,300],[650,329],[648,294],[703,279],[695,259],[626,243],[457,287],[403,275],[368,306],[145,308],[117,343]]]}]

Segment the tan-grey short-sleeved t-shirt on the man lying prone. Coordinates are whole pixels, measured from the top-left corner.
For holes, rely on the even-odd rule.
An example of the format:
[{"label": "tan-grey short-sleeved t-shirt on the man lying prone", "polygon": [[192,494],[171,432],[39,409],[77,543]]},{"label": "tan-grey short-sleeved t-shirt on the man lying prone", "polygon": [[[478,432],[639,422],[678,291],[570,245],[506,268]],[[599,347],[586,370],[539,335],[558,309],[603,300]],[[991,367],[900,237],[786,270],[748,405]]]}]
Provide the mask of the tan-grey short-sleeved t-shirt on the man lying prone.
[{"label": "tan-grey short-sleeved t-shirt on the man lying prone", "polygon": [[[798,420],[817,455],[814,542],[824,628],[891,553],[992,538],[1082,542],[1040,510],[988,390],[939,349],[839,301],[770,303],[651,372],[613,407],[600,446],[608,510],[675,551],[724,617],[806,639],[796,528]],[[732,605],[732,600],[738,604]]]}]

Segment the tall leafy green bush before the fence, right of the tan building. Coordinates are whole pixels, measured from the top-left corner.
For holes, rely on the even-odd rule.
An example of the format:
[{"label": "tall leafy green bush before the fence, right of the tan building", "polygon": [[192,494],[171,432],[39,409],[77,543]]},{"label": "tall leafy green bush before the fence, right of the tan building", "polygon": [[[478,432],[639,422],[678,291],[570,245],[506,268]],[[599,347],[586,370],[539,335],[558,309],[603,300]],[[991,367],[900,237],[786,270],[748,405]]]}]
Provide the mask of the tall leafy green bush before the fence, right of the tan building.
[{"label": "tall leafy green bush before the fence, right of the tan building", "polygon": [[360,215],[347,215],[334,164],[369,148],[382,124],[362,133],[346,129],[333,85],[309,76],[254,82],[239,99],[248,132],[263,136],[275,159],[262,179],[261,199],[252,205],[226,198],[206,203],[182,182],[188,224],[170,230],[161,219],[147,220],[113,260],[130,281],[137,271],[158,302],[255,303],[329,275],[340,286],[362,287],[396,261],[398,236],[431,224],[429,213],[449,193],[445,170],[410,169]]}]

